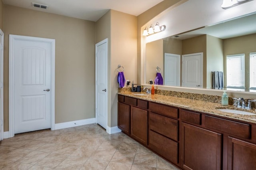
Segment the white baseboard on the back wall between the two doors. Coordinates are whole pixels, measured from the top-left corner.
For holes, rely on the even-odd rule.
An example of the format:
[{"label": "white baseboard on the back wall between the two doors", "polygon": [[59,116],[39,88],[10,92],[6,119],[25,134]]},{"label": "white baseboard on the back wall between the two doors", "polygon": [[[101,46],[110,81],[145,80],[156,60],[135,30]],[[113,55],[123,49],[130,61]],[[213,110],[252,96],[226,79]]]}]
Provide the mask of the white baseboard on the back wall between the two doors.
[{"label": "white baseboard on the back wall between the two doors", "polygon": [[92,124],[92,123],[96,123],[95,118],[71,121],[71,122],[64,122],[64,123],[57,123],[57,124],[55,124],[54,130],[58,130],[58,129],[62,129],[62,128],[77,127],[77,126],[81,126],[81,125],[88,125],[88,124]]}]

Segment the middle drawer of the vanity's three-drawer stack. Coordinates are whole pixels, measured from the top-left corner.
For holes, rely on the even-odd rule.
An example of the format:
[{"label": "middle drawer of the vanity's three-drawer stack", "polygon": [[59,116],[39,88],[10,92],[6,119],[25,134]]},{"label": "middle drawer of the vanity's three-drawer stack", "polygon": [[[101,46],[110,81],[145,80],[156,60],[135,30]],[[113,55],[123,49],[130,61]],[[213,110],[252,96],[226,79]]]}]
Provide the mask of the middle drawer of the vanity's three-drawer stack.
[{"label": "middle drawer of the vanity's three-drawer stack", "polygon": [[154,130],[168,138],[178,141],[178,121],[158,115],[149,113],[149,129]]}]

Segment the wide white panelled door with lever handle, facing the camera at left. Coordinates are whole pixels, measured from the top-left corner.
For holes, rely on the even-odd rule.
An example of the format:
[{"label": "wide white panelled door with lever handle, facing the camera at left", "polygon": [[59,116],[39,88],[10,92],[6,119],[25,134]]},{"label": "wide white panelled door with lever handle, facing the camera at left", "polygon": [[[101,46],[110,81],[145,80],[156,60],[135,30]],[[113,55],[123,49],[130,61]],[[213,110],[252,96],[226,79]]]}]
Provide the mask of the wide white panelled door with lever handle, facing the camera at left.
[{"label": "wide white panelled door with lever handle, facing the camera at left", "polygon": [[[11,36],[14,35],[10,35],[10,39]],[[14,134],[50,128],[51,93],[54,93],[51,90],[52,43],[42,38],[18,36],[12,39],[10,48]]]}]

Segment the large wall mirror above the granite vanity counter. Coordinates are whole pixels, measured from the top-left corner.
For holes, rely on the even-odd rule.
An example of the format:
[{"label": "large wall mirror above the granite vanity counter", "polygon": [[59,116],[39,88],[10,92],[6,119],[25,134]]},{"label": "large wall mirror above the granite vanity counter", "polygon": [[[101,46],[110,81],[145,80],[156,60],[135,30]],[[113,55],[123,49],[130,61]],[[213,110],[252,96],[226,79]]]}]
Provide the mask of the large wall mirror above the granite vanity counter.
[{"label": "large wall mirror above the granite vanity counter", "polygon": [[[161,72],[166,86],[225,89],[226,56],[244,54],[245,88],[228,90],[249,91],[250,53],[255,52],[256,14],[156,40],[146,44],[145,83]],[[216,73],[223,77],[222,87],[213,86]]]}]

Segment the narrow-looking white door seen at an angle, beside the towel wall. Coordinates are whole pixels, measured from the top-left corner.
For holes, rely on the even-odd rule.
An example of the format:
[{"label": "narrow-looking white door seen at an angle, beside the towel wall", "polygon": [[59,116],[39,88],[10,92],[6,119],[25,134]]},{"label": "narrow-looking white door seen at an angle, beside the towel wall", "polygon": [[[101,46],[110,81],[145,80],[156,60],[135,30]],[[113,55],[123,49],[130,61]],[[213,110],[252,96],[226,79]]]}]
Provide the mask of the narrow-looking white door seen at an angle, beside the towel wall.
[{"label": "narrow-looking white door seen at an angle, beside the towel wall", "polygon": [[95,45],[96,123],[107,128],[108,121],[108,39]]}]

